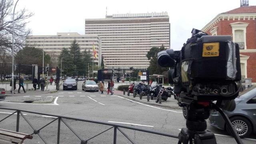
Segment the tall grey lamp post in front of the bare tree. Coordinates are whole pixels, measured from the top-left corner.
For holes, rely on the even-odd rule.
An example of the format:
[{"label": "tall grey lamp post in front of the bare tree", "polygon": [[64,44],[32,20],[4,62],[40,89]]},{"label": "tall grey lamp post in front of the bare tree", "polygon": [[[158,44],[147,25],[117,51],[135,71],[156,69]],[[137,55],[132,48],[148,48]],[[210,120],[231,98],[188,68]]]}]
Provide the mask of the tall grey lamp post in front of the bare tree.
[{"label": "tall grey lamp post in front of the bare tree", "polygon": [[16,4],[18,3],[19,0],[15,3],[13,13],[12,13],[12,94],[14,94],[14,12],[16,8]]}]

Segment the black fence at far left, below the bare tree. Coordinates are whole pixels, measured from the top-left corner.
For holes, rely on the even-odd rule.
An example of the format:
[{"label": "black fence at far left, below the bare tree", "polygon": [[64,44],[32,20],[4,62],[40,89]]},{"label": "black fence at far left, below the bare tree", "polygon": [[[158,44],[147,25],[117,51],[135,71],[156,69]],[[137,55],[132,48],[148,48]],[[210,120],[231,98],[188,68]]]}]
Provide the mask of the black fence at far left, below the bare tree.
[{"label": "black fence at far left, below the bare tree", "polygon": [[[34,66],[14,64],[14,76],[16,79],[23,76],[24,81],[31,81],[34,78]],[[0,80],[10,81],[12,79],[12,64],[0,63]]]}]

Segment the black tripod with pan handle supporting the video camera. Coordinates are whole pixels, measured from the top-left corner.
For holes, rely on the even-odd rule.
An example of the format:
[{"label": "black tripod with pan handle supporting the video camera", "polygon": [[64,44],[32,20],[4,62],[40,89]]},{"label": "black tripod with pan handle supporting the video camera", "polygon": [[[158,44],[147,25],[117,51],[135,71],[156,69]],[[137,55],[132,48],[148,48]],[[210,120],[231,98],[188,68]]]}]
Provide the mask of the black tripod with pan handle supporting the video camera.
[{"label": "black tripod with pan handle supporting the video camera", "polygon": [[[199,103],[199,104],[198,104]],[[216,104],[209,102],[192,102],[183,105],[183,116],[186,119],[186,128],[182,128],[178,135],[178,144],[217,144],[214,134],[206,131],[206,119],[210,116],[210,106],[216,109],[224,118],[227,126],[231,128],[234,138],[238,144],[243,144],[238,134],[232,128],[231,122],[224,114],[224,112],[216,106]]]}]

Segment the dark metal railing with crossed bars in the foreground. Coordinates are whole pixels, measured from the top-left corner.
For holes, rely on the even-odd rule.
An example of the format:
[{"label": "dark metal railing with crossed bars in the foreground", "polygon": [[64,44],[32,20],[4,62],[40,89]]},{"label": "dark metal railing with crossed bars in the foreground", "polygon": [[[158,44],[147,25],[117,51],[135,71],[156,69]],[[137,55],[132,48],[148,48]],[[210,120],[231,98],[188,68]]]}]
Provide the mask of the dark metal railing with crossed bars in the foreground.
[{"label": "dark metal railing with crossed bars in the foreground", "polygon": [[[129,138],[128,135],[125,134],[124,131],[122,131],[120,128],[136,130],[136,131],[140,131],[140,132],[147,132],[147,133],[157,134],[157,135],[161,135],[161,136],[168,136],[168,137],[171,137],[171,138],[178,138],[178,136],[176,136],[174,134],[168,134],[168,133],[164,133],[164,132],[157,132],[157,131],[154,131],[154,130],[146,130],[146,129],[141,129],[141,128],[135,128],[135,127],[131,127],[131,126],[124,126],[124,125],[121,125],[121,124],[113,124],[113,123],[108,123],[108,122],[86,120],[86,119],[81,119],[81,118],[72,118],[72,117],[68,117],[68,116],[59,116],[59,115],[54,115],[54,114],[45,114],[45,113],[41,113],[41,112],[32,112],[32,111],[28,111],[28,110],[19,110],[19,109],[14,109],[14,108],[0,108],[0,109],[14,110],[15,111],[12,114],[10,114],[10,115],[6,116],[5,118],[3,118],[2,120],[0,120],[0,122],[5,120],[6,118],[12,116],[13,114],[17,113],[16,132],[19,132],[20,116],[22,116],[24,118],[24,120],[28,123],[28,125],[34,130],[31,135],[37,134],[45,144],[49,144],[49,143],[40,134],[40,130],[42,130],[46,126],[52,124],[52,122],[54,122],[56,120],[58,120],[57,144],[60,144],[60,123],[61,122],[63,122],[68,127],[68,129],[71,130],[76,135],[76,137],[81,141],[81,144],[87,144],[88,141],[91,140],[92,138],[95,138],[96,136],[99,136],[100,134],[102,134],[102,133],[104,133],[104,132],[106,132],[106,131],[108,131],[112,128],[114,128],[113,144],[116,144],[117,130],[119,132],[121,132],[132,144],[136,144],[136,142],[134,142],[131,138]],[[26,116],[24,116],[23,112],[32,113],[32,114],[40,114],[40,115],[44,115],[44,116],[52,116],[52,117],[55,117],[55,119],[52,120],[51,122],[47,123],[46,125],[42,126],[41,128],[36,129],[35,126],[26,118]],[[100,132],[99,134],[96,134],[95,136],[92,136],[91,138],[88,138],[88,139],[84,140],[77,132],[75,132],[75,130],[72,127],[70,127],[70,125],[68,125],[68,123],[64,119],[77,120],[77,121],[82,121],[82,122],[90,122],[90,123],[94,123],[94,124],[108,125],[108,126],[111,126],[111,127],[102,131],[102,132]]]}]

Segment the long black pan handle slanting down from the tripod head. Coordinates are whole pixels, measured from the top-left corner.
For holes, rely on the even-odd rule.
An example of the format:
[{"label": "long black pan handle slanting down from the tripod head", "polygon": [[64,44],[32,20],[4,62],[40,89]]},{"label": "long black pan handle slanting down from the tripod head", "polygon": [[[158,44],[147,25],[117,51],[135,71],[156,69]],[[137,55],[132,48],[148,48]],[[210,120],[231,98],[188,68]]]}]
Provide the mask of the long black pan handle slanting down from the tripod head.
[{"label": "long black pan handle slanting down from the tripod head", "polygon": [[230,132],[232,132],[232,135],[234,136],[236,142],[238,144],[244,144],[241,140],[241,138],[238,136],[238,134],[236,133],[236,131],[234,130],[234,128],[232,127],[232,124],[228,118],[228,116],[222,111],[221,108],[219,108],[216,104],[212,103],[212,107],[217,110],[221,116],[223,117],[223,119],[225,120],[226,122],[226,126],[228,126],[228,128],[230,129]]}]

